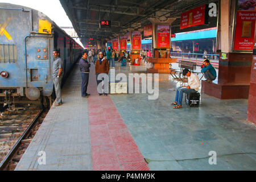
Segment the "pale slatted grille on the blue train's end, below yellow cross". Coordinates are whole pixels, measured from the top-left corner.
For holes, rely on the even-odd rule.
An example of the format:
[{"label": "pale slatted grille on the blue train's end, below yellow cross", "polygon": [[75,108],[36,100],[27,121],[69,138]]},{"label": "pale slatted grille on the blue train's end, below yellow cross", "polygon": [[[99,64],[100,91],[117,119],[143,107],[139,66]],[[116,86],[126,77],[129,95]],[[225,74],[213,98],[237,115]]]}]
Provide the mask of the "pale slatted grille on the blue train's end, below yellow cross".
[{"label": "pale slatted grille on the blue train's end, below yellow cross", "polygon": [[17,47],[14,44],[0,44],[0,63],[15,63]]}]

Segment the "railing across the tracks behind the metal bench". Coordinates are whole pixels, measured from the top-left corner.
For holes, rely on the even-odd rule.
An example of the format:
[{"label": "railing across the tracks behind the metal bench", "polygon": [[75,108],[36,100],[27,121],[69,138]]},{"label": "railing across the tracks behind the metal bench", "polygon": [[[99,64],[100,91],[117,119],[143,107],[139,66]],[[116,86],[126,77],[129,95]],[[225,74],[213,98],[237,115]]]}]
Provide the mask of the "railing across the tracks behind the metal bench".
[{"label": "railing across the tracks behind the metal bench", "polygon": [[209,53],[183,53],[183,52],[170,52],[170,56],[173,58],[178,58],[181,60],[189,60],[189,61],[203,61],[205,58],[211,62],[218,63],[218,57],[220,55],[214,55]]}]

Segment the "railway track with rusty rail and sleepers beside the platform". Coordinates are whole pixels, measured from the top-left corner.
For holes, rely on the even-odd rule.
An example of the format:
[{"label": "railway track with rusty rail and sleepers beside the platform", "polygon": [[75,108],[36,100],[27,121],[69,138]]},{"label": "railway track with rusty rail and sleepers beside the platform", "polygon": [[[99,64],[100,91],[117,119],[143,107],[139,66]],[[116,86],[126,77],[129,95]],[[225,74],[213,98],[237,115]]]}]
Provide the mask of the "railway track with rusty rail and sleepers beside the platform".
[{"label": "railway track with rusty rail and sleepers beside the platform", "polygon": [[47,109],[30,108],[20,111],[18,115],[0,118],[0,171],[15,169],[47,112]]}]

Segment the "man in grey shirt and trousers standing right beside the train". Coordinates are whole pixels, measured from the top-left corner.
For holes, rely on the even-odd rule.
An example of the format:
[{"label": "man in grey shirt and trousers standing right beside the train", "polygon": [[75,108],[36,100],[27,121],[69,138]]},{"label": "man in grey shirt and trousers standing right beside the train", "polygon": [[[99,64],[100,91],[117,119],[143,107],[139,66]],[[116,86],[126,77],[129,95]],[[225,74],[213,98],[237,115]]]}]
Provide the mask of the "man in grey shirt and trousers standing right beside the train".
[{"label": "man in grey shirt and trousers standing right beside the train", "polygon": [[53,84],[55,88],[56,100],[54,106],[60,106],[62,104],[61,101],[61,81],[63,78],[63,61],[61,60],[60,52],[58,49],[54,49],[53,52],[53,65],[52,65],[52,78]]}]

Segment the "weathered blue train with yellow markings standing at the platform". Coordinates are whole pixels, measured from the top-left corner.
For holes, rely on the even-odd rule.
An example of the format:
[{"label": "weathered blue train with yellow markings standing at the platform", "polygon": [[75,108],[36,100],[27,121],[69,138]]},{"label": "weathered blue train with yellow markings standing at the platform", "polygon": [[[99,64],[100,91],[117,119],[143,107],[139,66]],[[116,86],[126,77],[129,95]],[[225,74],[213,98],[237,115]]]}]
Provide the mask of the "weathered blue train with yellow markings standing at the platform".
[{"label": "weathered blue train with yellow markings standing at the platform", "polygon": [[0,3],[0,109],[42,102],[51,106],[53,49],[59,49],[64,78],[83,48],[53,20],[29,7]]}]

